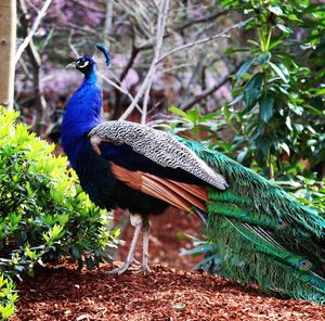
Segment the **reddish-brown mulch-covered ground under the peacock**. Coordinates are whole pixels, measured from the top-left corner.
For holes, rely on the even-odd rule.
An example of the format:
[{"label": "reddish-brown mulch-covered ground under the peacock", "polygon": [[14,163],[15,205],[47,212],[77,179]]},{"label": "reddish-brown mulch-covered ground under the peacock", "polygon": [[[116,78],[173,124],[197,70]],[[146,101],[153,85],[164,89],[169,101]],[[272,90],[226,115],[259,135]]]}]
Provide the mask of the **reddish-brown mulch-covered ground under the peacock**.
[{"label": "reddish-brown mulch-covered ground under the peacock", "polygon": [[[110,265],[79,272],[68,261],[41,268],[18,285],[18,311],[12,320],[325,320],[325,307],[316,304],[274,298],[232,280],[190,271],[195,261],[180,257],[179,251],[191,242],[176,234],[198,231],[193,217],[173,211],[156,217],[150,273],[113,277],[105,274]],[[127,241],[130,235],[128,229]],[[126,251],[121,246],[121,257]]]}]

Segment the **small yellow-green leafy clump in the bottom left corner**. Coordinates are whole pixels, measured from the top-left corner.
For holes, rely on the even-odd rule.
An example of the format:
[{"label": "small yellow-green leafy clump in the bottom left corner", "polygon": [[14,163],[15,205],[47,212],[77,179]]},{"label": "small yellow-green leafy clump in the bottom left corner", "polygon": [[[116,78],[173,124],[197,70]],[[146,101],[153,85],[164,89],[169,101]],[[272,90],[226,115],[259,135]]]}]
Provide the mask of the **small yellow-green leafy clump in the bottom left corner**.
[{"label": "small yellow-green leafy clump in the bottom left corner", "polygon": [[0,317],[6,320],[15,311],[17,294],[14,292],[14,283],[0,274]]}]

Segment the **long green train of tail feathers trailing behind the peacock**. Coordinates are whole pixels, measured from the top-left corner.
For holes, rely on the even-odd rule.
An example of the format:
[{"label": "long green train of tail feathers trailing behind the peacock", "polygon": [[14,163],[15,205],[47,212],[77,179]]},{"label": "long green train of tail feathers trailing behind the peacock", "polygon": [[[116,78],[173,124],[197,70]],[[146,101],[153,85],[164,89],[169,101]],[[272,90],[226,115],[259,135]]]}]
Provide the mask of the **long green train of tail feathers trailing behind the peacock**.
[{"label": "long green train of tail feathers trailing behind the peacock", "polygon": [[324,216],[223,154],[179,139],[230,184],[209,189],[207,234],[223,271],[264,291],[325,304]]}]

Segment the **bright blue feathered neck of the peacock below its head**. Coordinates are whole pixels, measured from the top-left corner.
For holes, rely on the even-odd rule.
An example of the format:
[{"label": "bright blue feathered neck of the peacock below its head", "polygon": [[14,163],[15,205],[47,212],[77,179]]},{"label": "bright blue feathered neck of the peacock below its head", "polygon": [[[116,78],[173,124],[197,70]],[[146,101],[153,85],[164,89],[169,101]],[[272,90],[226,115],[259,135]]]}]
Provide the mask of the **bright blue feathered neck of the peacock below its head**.
[{"label": "bright blue feathered neck of the peacock below its head", "polygon": [[95,68],[89,75],[84,75],[63,117],[62,144],[74,168],[82,149],[88,146],[88,132],[102,120],[102,90],[96,86],[96,79]]}]

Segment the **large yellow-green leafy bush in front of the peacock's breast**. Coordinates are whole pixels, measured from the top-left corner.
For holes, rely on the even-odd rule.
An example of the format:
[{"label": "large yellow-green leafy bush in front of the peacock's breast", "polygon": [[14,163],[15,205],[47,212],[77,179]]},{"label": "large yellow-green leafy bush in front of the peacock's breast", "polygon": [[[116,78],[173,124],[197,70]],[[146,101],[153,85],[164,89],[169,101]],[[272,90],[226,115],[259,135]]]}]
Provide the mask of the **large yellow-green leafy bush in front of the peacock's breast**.
[{"label": "large yellow-green leafy bush in front of the peacock's breast", "polygon": [[107,214],[81,191],[66,157],[0,108],[0,272],[21,278],[34,265],[69,254],[95,267],[113,245]]}]

